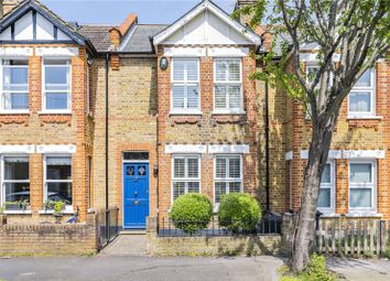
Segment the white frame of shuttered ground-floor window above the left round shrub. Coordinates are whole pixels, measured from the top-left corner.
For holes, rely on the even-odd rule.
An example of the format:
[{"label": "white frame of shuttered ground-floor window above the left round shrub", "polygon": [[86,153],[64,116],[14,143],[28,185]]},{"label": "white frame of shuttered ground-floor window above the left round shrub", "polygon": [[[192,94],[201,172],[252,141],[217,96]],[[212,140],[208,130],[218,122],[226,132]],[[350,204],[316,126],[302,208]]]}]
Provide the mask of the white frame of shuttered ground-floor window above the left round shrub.
[{"label": "white frame of shuttered ground-floor window above the left round shrub", "polygon": [[[175,159],[185,159],[185,175],[188,174],[188,164],[187,164],[187,159],[197,159],[198,163],[198,176],[197,177],[175,177]],[[199,194],[202,193],[202,155],[201,154],[172,154],[171,158],[171,204],[174,202],[174,183],[175,182],[184,182],[184,183],[188,183],[188,182],[198,182],[199,183]],[[188,185],[185,184],[185,191],[184,194],[188,194]]]}]

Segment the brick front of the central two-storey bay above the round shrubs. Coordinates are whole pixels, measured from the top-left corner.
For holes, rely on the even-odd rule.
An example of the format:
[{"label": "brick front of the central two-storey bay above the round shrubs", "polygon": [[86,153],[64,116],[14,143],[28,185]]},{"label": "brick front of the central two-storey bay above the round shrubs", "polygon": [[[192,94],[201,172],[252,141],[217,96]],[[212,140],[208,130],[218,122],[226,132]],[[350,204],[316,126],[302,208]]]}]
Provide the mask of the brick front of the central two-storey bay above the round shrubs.
[{"label": "brick front of the central two-storey bay above the round shrubs", "polygon": [[[163,46],[159,47],[159,61]],[[159,199],[160,214],[166,216],[171,207],[171,154],[165,153],[167,144],[248,144],[250,152],[243,154],[243,191],[258,196],[262,175],[258,172],[260,156],[258,151],[263,143],[259,128],[262,112],[262,91],[257,83],[249,79],[256,71],[256,61],[251,56],[242,58],[243,108],[246,115],[213,115],[214,105],[214,58],[201,57],[201,110],[202,116],[173,116],[171,110],[171,57],[166,71],[158,71],[159,80]],[[261,85],[260,83],[258,84]],[[201,192],[214,202],[214,156],[201,155]],[[259,159],[258,159],[259,158]],[[259,196],[258,196],[259,197]],[[260,198],[263,202],[263,197]]]}]

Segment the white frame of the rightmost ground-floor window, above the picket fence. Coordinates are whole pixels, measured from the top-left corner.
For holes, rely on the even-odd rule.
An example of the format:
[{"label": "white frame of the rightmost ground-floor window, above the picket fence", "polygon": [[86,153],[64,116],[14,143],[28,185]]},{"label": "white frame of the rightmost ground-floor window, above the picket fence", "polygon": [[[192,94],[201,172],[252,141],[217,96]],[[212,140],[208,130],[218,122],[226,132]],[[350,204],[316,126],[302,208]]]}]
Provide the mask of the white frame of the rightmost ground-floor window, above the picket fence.
[{"label": "white frame of the rightmost ground-floor window, above the picket fence", "polygon": [[[350,182],[350,165],[351,164],[371,164],[372,183],[351,183]],[[351,188],[371,188],[371,207],[351,207],[350,206],[350,190]],[[349,160],[348,161],[348,213],[357,213],[359,215],[377,213],[377,160]]]}]

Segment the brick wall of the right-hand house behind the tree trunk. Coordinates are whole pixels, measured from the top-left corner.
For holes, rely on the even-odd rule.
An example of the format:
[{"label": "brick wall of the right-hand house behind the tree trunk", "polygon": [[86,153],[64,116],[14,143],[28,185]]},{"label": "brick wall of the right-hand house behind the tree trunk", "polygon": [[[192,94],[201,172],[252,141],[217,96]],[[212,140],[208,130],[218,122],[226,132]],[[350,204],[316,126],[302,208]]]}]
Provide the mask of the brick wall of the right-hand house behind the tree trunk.
[{"label": "brick wall of the right-hand house behind the tree trunk", "polygon": [[[390,217],[388,193],[390,181],[388,169],[390,164],[389,132],[390,115],[387,108],[390,100],[390,61],[383,60],[377,63],[376,69],[376,119],[348,119],[348,100],[342,106],[339,120],[333,137],[331,150],[384,150],[386,159],[377,160],[377,207],[383,218]],[[292,111],[291,111],[292,110]],[[300,197],[303,186],[303,176],[306,161],[300,159],[301,150],[308,150],[311,139],[311,122],[305,119],[303,106],[286,97],[284,139],[286,151],[293,151],[292,165],[292,194],[291,201],[294,210],[299,209]],[[348,213],[348,160],[335,160],[336,173],[336,213]],[[289,183],[286,183],[289,184]],[[286,186],[286,190],[289,186]]]}]

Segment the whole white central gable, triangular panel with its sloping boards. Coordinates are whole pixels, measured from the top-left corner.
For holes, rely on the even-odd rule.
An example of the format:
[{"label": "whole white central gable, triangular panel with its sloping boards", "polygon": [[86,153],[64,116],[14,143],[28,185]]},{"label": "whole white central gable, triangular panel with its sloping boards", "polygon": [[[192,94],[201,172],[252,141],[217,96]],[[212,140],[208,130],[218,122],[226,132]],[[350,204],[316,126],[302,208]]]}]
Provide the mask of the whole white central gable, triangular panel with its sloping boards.
[{"label": "whole white central gable, triangular panel with its sloping boards", "polygon": [[230,19],[210,1],[204,1],[153,37],[154,45],[257,45],[260,37]]}]

